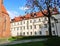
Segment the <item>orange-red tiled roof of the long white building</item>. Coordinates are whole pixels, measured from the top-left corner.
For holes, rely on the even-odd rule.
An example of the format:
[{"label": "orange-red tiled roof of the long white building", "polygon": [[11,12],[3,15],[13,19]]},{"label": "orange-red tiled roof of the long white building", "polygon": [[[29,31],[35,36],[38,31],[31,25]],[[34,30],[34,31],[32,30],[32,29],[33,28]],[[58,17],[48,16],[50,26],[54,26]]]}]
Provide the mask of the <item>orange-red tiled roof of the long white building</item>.
[{"label": "orange-red tiled roof of the long white building", "polygon": [[[43,13],[47,14],[47,10],[44,10]],[[53,14],[57,14],[57,13],[58,13],[57,10],[53,12]],[[42,14],[42,12],[36,12],[35,14],[36,14],[36,16],[34,16],[34,13],[32,13],[33,17],[31,16],[31,14],[26,14],[25,16],[15,17],[13,22],[21,21],[21,20],[24,20],[24,19],[31,19],[31,18],[37,18],[37,17],[44,16]]]}]

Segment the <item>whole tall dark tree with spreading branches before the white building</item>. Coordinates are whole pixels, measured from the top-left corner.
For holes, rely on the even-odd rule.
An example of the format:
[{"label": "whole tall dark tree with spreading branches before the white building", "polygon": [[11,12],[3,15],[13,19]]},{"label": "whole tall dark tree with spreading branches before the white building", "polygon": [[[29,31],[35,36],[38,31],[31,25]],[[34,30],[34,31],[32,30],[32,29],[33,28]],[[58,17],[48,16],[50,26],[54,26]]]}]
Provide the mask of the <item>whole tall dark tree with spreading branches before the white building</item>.
[{"label": "whole tall dark tree with spreading branches before the white building", "polygon": [[[60,0],[26,0],[26,6],[32,10],[31,12],[34,12],[34,10],[41,11],[41,13],[48,17],[48,25],[49,25],[49,36],[52,36],[51,33],[51,12],[53,11],[53,8],[60,8]],[[47,10],[47,13],[45,14],[43,11]],[[53,18],[53,17],[52,17]]]}]

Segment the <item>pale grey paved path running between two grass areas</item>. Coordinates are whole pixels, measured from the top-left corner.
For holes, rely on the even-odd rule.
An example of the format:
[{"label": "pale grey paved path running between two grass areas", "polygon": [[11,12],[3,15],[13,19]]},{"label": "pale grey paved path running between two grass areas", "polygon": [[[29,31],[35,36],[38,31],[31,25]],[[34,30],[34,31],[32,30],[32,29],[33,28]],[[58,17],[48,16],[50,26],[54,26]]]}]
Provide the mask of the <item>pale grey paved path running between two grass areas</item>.
[{"label": "pale grey paved path running between two grass areas", "polygon": [[0,46],[6,46],[6,45],[12,45],[12,44],[21,44],[21,43],[27,43],[27,42],[45,41],[45,40],[47,40],[47,39],[20,40],[20,41],[13,41],[13,42],[0,44]]}]

